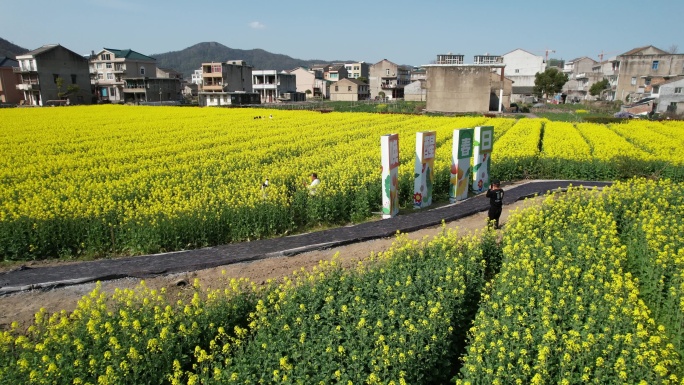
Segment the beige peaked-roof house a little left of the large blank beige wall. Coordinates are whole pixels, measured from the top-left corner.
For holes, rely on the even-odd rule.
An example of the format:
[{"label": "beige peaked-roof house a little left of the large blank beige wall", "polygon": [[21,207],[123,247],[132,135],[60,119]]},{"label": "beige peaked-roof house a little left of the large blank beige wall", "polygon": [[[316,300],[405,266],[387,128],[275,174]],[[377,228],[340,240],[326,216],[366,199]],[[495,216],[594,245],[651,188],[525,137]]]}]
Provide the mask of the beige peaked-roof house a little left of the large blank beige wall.
[{"label": "beige peaked-roof house a little left of the large blank beige wall", "polygon": [[371,98],[384,95],[388,99],[401,99],[404,87],[411,83],[411,69],[383,59],[370,66],[368,80]]}]

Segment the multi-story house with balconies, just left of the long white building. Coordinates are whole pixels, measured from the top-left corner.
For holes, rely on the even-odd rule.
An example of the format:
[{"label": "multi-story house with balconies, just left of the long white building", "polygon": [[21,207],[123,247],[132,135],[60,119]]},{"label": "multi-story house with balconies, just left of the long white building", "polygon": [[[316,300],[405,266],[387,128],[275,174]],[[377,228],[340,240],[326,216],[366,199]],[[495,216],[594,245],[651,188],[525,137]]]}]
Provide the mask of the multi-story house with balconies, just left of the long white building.
[{"label": "multi-story house with balconies, just left of the long white building", "polygon": [[[222,106],[233,104],[236,99],[240,104],[252,98],[252,66],[244,60],[229,60],[225,63],[202,63],[202,84],[198,92],[200,106]],[[248,97],[237,97],[234,94],[247,94]],[[258,100],[256,100],[258,103]]]}]

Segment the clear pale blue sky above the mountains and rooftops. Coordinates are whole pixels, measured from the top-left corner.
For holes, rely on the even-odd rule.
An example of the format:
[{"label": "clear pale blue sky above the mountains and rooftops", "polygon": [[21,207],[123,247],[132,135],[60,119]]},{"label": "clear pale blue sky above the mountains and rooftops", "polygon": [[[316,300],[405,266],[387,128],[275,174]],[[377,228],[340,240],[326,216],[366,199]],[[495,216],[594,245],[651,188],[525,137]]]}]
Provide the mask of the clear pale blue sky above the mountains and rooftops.
[{"label": "clear pale blue sky above the mountains and rooftops", "polygon": [[447,52],[472,62],[516,48],[597,60],[644,45],[684,53],[682,15],[682,0],[2,0],[0,37],[81,54],[107,47],[153,55],[216,41],[371,64],[428,64]]}]

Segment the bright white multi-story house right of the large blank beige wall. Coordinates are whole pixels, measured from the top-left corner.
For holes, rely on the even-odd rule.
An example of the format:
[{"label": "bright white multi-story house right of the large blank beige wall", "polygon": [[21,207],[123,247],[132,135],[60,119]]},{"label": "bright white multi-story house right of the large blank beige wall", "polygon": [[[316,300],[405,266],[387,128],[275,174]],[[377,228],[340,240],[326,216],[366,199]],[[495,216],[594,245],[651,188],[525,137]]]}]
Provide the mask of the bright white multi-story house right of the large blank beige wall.
[{"label": "bright white multi-story house right of the large blank beige wall", "polygon": [[511,101],[530,101],[534,97],[535,75],[546,69],[544,57],[520,48],[505,53],[502,57],[503,64],[506,65],[504,76],[513,81]]}]

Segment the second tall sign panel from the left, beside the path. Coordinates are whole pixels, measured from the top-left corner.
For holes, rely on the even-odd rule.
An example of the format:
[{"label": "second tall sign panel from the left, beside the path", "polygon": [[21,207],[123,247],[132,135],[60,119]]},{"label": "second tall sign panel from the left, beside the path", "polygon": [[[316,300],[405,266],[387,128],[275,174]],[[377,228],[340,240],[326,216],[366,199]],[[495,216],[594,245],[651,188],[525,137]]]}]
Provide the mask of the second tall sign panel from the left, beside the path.
[{"label": "second tall sign panel from the left, beside the path", "polygon": [[432,185],[435,181],[435,150],[437,132],[416,132],[416,163],[413,182],[413,207],[432,204]]}]

